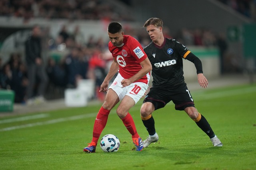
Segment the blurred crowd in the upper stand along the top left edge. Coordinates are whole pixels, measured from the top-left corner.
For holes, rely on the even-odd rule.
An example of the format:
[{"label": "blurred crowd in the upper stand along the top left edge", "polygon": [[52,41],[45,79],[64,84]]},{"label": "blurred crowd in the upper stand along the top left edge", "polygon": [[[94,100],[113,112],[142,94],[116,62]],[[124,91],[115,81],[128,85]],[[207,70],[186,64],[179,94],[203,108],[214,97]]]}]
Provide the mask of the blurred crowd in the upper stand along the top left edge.
[{"label": "blurred crowd in the upper stand along the top left edge", "polygon": [[1,0],[0,15],[70,20],[133,20],[106,0]]}]

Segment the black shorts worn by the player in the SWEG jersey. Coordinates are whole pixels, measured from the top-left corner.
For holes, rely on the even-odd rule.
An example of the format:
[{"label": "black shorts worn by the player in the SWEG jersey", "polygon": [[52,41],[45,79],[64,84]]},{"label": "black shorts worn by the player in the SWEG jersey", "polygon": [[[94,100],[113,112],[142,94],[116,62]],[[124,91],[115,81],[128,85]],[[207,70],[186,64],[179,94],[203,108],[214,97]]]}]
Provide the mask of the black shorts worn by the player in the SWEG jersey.
[{"label": "black shorts worn by the player in the SWEG jersey", "polygon": [[187,88],[186,83],[172,86],[170,88],[160,88],[152,86],[149,93],[146,95],[144,102],[150,102],[156,109],[164,107],[172,101],[175,104],[176,110],[184,110],[186,107],[195,107],[193,98]]}]

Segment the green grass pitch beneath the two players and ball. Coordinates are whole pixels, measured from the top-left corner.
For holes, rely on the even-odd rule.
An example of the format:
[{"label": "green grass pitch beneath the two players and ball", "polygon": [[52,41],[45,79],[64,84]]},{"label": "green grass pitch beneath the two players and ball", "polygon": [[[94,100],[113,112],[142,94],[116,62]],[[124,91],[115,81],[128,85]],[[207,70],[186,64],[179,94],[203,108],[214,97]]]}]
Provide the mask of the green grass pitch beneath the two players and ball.
[{"label": "green grass pitch beneath the two players and ball", "polygon": [[[223,143],[210,139],[170,102],[153,113],[158,143],[134,150],[131,135],[112,109],[102,132],[120,139],[118,152],[86,154],[100,105],[0,119],[1,170],[256,170],[256,84],[191,91],[196,108]],[[142,139],[148,133],[139,101],[130,114]]]}]

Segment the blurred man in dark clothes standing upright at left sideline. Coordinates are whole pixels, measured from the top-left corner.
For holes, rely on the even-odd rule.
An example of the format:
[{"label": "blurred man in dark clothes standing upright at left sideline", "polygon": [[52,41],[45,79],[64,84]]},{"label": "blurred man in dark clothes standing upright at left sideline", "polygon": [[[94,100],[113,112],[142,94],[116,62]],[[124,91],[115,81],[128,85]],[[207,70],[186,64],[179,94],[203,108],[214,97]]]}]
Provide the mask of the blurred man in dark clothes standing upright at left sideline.
[{"label": "blurred man in dark clothes standing upright at left sideline", "polygon": [[[27,104],[44,102],[44,93],[48,83],[48,76],[41,56],[41,29],[38,25],[32,28],[32,35],[25,42],[26,63],[28,69]],[[39,79],[38,88],[35,88]],[[34,94],[34,90],[36,94]],[[36,98],[33,98],[33,97]]]}]

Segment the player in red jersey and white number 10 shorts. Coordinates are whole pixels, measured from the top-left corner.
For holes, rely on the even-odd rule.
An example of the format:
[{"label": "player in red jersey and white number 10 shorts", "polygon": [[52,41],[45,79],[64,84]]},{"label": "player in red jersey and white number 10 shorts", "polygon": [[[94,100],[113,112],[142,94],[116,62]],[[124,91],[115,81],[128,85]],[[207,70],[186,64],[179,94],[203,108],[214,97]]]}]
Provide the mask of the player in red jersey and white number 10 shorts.
[{"label": "player in red jersey and white number 10 shorts", "polygon": [[[142,139],[128,111],[146,92],[152,66],[140,43],[134,37],[124,35],[120,23],[111,22],[108,25],[108,37],[110,39],[108,49],[112,53],[113,62],[100,86],[100,92],[107,94],[94,122],[92,142],[84,148],[84,152],[95,152],[110,110],[120,101],[116,113],[132,135],[136,150],[140,151],[143,149]],[[118,75],[108,88],[109,81],[117,71]]]}]

